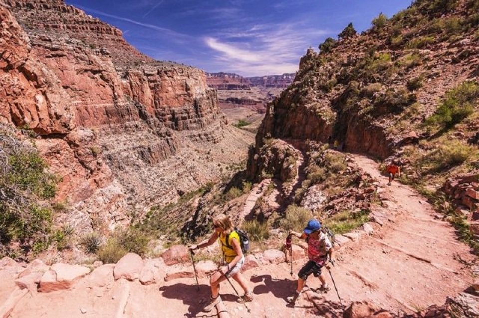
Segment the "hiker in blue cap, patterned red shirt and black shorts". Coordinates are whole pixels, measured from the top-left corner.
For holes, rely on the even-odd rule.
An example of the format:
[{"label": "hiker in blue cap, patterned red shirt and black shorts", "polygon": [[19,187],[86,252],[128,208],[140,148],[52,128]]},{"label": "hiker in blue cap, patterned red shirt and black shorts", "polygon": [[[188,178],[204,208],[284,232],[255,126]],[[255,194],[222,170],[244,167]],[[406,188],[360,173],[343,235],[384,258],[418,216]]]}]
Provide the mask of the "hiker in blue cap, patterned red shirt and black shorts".
[{"label": "hiker in blue cap, patterned red shirt and black shorts", "polygon": [[[320,231],[321,223],[318,220],[312,219],[300,234],[298,232],[289,231],[289,234],[300,239],[306,239],[308,243],[308,258],[309,261],[301,268],[298,273],[298,286],[296,293],[292,297],[288,297],[288,303],[295,303],[303,290],[306,279],[309,275],[314,274],[321,281],[321,292],[328,292],[330,290],[324,274],[321,273],[321,268],[326,266],[330,269],[330,263],[334,262],[334,248],[327,235]],[[328,260],[329,256],[329,260]]]}]

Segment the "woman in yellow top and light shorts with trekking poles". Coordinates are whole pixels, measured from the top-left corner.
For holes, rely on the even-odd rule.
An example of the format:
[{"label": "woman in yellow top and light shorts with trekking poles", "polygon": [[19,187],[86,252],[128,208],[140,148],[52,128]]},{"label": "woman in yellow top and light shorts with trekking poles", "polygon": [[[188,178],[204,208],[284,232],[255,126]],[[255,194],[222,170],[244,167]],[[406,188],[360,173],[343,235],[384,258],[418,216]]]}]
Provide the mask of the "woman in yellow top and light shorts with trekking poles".
[{"label": "woman in yellow top and light shorts with trekking poles", "polygon": [[[246,280],[240,273],[241,266],[244,264],[244,255],[241,251],[240,236],[235,231],[230,217],[225,214],[218,215],[213,219],[213,227],[215,228],[215,232],[213,232],[209,239],[202,241],[198,245],[191,245],[189,247],[190,250],[198,250],[210,246],[218,240],[223,252],[224,266],[220,267],[219,270],[210,277],[211,301],[204,308],[205,312],[211,312],[211,310],[221,302],[219,294],[220,283],[225,281],[227,277],[232,277],[240,284],[244,291],[244,296],[241,297],[243,301],[250,302],[253,300],[253,293],[249,290],[246,285]],[[229,241],[228,243],[227,239]]]}]

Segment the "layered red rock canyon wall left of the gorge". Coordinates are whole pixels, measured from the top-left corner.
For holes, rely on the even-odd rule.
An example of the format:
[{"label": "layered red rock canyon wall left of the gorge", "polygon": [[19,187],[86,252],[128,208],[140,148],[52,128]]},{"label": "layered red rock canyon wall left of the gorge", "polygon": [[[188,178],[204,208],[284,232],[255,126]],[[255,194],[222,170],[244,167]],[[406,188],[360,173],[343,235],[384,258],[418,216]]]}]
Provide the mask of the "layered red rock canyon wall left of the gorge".
[{"label": "layered red rock canyon wall left of the gorge", "polygon": [[154,61],[62,0],[4,0],[0,14],[0,123],[36,136],[78,234],[127,225],[245,158],[252,136],[227,125],[203,71]]}]

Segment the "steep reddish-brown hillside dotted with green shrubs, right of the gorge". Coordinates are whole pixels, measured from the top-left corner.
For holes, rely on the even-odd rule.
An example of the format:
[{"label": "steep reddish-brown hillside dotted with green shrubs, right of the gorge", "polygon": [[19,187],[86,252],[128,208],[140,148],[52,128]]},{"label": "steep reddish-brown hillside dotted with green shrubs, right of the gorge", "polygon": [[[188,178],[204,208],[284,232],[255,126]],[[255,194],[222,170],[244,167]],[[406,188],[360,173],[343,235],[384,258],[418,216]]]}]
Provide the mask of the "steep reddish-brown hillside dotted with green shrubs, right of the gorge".
[{"label": "steep reddish-brown hillside dotted with green shrubs, right of the gorge", "polygon": [[475,0],[415,1],[390,19],[380,14],[362,34],[342,32],[319,53],[309,49],[294,82],[268,105],[248,175],[281,173],[288,156],[268,158],[271,139],[303,149],[337,141],[348,152],[398,159],[404,182],[429,193],[457,174],[477,175],[478,8]]}]

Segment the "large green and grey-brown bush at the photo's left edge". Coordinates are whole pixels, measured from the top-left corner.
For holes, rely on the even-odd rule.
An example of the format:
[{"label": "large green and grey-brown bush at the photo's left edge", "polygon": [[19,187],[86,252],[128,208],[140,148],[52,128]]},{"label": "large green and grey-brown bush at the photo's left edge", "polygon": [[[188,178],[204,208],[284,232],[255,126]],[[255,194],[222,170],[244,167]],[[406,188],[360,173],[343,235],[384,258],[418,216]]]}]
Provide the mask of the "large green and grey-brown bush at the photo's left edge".
[{"label": "large green and grey-brown bush at the photo's left edge", "polygon": [[58,178],[47,171],[33,145],[0,126],[0,256],[25,257],[51,243],[48,200]]}]

